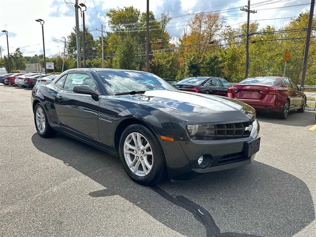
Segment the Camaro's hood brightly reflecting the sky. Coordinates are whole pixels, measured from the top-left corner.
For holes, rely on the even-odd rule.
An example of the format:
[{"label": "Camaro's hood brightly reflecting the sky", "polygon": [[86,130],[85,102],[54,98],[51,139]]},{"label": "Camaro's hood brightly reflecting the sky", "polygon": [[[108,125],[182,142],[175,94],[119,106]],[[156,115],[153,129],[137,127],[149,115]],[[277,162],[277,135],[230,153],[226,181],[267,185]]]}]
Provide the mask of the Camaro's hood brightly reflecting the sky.
[{"label": "Camaro's hood brightly reflecting the sky", "polygon": [[[126,99],[126,97],[125,97]],[[240,111],[245,104],[227,97],[203,95],[180,90],[151,90],[129,99],[157,104],[182,112]],[[154,105],[153,105],[154,106]]]}]

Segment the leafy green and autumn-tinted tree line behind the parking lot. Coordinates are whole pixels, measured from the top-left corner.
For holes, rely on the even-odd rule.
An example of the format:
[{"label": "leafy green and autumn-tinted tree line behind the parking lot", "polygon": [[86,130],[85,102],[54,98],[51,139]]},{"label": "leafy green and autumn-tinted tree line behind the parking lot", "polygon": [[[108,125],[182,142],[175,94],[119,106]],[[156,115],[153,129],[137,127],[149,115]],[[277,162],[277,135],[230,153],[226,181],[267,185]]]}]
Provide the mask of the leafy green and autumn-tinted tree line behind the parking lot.
[{"label": "leafy green and autumn-tinted tree line behind the parking lot", "polygon": [[[146,67],[146,13],[130,7],[113,8],[105,15],[109,18],[111,32],[105,32],[104,64],[101,60],[101,37],[95,40],[88,29],[86,35],[86,66],[143,70]],[[287,63],[285,75],[297,83],[301,80],[309,12],[291,19],[285,26],[259,28],[250,24],[249,77],[282,76],[284,54],[288,50],[292,59]],[[150,12],[150,70],[162,78],[183,79],[197,76],[219,76],[231,82],[244,79],[246,24],[237,28],[226,25],[218,13],[201,13],[187,22],[176,43],[170,42],[167,24],[170,17],[159,17]],[[314,25],[316,26],[316,18]],[[313,28],[314,29],[314,28]],[[312,31],[315,37],[315,30]],[[82,42],[82,32],[79,32]],[[293,39],[303,38],[303,39]],[[161,43],[157,40],[160,39]],[[282,40],[279,40],[282,39]],[[64,70],[76,68],[76,32],[68,36]],[[82,52],[82,43],[80,43]],[[18,48],[11,57],[11,68],[22,69],[25,63],[41,63],[42,55],[23,57]],[[311,39],[306,84],[316,84],[316,40]],[[55,72],[61,72],[63,55],[47,58],[54,62]],[[82,56],[82,54],[81,54]],[[83,58],[81,58],[83,60]],[[82,63],[83,64],[83,63]],[[0,67],[7,66],[7,58]],[[25,67],[24,67],[25,68]]]}]

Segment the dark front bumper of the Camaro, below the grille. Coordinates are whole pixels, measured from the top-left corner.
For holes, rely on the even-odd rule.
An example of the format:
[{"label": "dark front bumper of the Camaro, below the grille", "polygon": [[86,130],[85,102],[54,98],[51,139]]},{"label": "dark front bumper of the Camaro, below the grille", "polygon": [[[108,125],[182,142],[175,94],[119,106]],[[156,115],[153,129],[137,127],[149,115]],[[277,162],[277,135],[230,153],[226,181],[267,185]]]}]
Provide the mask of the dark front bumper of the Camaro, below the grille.
[{"label": "dark front bumper of the Camaro, below the grille", "polygon": [[[200,173],[215,172],[250,164],[255,154],[248,156],[247,144],[259,133],[259,123],[253,122],[254,131],[247,138],[216,141],[163,141],[168,175],[171,179],[184,179]],[[200,168],[197,160],[209,155],[211,162]]]}]

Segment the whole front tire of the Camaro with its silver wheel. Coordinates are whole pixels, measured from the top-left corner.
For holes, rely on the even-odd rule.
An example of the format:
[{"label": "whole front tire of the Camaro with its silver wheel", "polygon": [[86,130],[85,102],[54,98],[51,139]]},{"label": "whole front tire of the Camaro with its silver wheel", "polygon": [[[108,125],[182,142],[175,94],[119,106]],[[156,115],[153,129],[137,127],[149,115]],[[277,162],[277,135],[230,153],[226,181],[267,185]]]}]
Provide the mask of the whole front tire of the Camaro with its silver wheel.
[{"label": "whole front tire of the Camaro with its silver wheel", "polygon": [[128,176],[141,185],[154,185],[165,177],[165,159],[157,137],[144,125],[123,131],[119,157]]}]

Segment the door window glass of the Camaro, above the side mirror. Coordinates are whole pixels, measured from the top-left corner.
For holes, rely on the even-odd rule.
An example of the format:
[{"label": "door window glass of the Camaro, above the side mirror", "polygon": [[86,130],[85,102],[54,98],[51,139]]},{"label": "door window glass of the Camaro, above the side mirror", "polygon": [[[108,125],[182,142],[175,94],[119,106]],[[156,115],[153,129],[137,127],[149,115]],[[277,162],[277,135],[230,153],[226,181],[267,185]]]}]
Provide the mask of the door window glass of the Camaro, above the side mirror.
[{"label": "door window glass of the Camaro, above the side mirror", "polygon": [[95,81],[90,76],[81,73],[68,74],[64,89],[73,90],[76,85],[88,85],[98,91]]}]

